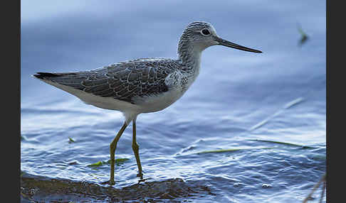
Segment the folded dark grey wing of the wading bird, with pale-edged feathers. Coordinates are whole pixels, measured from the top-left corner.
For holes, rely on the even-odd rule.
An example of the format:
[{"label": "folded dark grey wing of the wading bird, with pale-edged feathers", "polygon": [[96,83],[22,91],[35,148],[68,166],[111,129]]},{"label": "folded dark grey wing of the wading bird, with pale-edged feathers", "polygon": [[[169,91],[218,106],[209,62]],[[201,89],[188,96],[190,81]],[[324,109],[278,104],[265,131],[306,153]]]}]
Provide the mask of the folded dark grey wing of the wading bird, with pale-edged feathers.
[{"label": "folded dark grey wing of the wading bird, with pale-edged feathers", "polygon": [[181,65],[174,60],[138,59],[85,72],[38,74],[44,79],[100,97],[112,97],[134,104],[135,97],[167,92],[169,87],[164,79],[179,67]]}]

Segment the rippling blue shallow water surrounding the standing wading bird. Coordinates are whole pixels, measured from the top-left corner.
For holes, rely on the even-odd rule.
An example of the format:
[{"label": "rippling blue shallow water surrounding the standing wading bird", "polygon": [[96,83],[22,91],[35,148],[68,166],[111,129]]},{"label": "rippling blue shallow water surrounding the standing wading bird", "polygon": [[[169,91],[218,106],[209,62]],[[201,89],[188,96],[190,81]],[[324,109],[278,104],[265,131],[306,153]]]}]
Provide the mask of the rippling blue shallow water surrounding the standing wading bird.
[{"label": "rippling blue shallow water surrounding the standing wading bird", "polygon": [[[22,202],[303,201],[325,173],[325,2],[266,1],[257,9],[243,1],[198,9],[197,1],[178,2],[171,7],[184,5],[179,17],[162,12],[159,1],[157,9],[120,1],[121,10],[90,2],[37,1],[36,10],[22,1]],[[197,19],[263,53],[205,50],[199,77],[179,101],[138,116],[145,182],[136,176],[129,126],[116,150],[115,158],[128,159],[115,167],[116,185],[101,184],[110,165],[88,165],[109,160],[122,114],[30,75],[175,57],[182,29]],[[297,22],[310,36],[302,46]]]}]

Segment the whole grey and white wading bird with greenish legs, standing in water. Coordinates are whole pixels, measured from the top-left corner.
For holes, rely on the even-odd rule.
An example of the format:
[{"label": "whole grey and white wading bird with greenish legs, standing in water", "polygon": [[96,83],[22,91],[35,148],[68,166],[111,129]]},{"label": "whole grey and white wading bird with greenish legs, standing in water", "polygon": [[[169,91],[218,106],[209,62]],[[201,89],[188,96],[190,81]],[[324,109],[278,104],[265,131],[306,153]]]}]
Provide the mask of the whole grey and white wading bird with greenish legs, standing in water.
[{"label": "whole grey and white wading bird with greenish legs, standing in water", "polygon": [[110,143],[110,185],[115,184],[117,141],[132,121],[132,150],[142,179],[136,119],[139,114],[160,111],[177,101],[189,89],[201,67],[201,52],[212,45],[224,45],[261,53],[231,43],[216,34],[207,22],[194,21],[184,29],[178,44],[177,59],[140,58],[80,72],[37,72],[33,76],[58,87],[86,104],[121,111],[125,121]]}]

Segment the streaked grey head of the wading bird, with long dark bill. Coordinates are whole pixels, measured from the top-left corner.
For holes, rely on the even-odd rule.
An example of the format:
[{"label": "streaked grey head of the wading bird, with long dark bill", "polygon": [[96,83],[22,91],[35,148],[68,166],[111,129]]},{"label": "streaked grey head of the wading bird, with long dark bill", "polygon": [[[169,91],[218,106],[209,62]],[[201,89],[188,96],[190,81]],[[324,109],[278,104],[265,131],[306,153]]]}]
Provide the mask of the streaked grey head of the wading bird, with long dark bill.
[{"label": "streaked grey head of the wading bird, with long dark bill", "polygon": [[260,50],[246,48],[236,43],[220,38],[211,23],[194,21],[185,28],[179,40],[178,55],[182,56],[184,51],[194,50],[201,52],[212,45],[224,45],[229,48],[245,50],[253,53],[262,53]]}]

